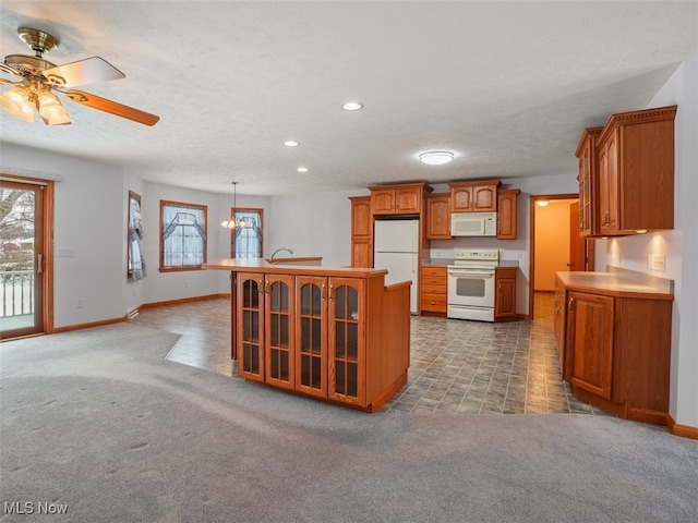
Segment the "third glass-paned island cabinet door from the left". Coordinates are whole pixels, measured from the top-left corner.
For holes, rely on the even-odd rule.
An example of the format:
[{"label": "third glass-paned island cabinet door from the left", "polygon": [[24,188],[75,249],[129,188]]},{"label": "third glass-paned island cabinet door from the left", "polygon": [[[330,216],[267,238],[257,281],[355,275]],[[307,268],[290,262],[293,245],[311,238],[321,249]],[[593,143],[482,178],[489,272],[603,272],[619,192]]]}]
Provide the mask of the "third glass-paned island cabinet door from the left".
[{"label": "third glass-paned island cabinet door from the left", "polygon": [[327,398],[327,278],[297,278],[296,389]]}]

